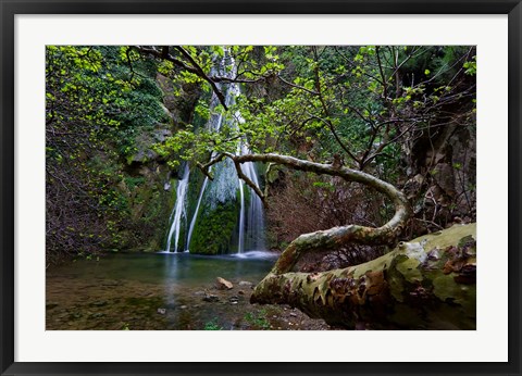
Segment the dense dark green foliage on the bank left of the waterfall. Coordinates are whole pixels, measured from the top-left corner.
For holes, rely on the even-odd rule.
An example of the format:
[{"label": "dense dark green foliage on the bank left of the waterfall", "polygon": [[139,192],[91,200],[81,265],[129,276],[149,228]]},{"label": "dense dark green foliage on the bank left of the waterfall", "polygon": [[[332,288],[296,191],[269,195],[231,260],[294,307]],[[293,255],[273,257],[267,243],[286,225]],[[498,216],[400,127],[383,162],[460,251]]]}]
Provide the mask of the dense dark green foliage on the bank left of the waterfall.
[{"label": "dense dark green foliage on the bank left of the waterfall", "polygon": [[[117,47],[46,48],[47,251],[117,248],[128,202],[117,188],[135,137],[164,118],[153,76]],[[136,181],[138,183],[138,181]],[[52,260],[50,260],[52,261]]]}]

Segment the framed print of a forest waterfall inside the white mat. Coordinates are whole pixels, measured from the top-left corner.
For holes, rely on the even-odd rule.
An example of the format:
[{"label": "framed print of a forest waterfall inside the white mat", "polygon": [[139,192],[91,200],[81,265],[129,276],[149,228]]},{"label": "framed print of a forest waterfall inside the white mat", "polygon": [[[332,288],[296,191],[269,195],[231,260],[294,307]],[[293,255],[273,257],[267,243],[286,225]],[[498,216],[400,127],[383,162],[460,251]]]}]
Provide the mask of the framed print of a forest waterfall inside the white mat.
[{"label": "framed print of a forest waterfall inside the white mat", "polygon": [[47,46],[47,330],[475,330],[474,46]]}]

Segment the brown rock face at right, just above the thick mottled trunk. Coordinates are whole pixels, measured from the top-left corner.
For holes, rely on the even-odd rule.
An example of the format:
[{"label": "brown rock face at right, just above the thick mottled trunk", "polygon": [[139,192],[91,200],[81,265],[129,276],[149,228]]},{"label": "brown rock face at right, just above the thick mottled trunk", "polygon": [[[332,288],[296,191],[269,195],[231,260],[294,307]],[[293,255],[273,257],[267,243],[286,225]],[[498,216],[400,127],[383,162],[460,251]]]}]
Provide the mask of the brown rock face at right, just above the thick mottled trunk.
[{"label": "brown rock face at right, just above the thick mottled trunk", "polygon": [[[409,179],[402,188],[415,216],[433,218],[443,228],[476,221],[474,129],[452,124],[426,133],[414,141],[405,162]],[[420,223],[412,234],[423,234],[425,227],[425,222]]]}]

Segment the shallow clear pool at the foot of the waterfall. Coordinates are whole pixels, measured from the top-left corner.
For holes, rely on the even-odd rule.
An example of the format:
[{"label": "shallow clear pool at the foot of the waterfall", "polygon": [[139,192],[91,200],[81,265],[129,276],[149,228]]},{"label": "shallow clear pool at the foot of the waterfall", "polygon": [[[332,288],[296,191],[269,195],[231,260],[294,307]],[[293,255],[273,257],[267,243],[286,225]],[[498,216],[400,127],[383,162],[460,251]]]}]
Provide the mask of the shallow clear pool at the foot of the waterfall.
[{"label": "shallow clear pool at the foot of the waterfall", "polygon": [[[247,252],[110,254],[76,260],[47,271],[47,329],[204,329],[209,323],[241,328],[259,310],[252,287],[277,255]],[[216,277],[234,284],[215,288]],[[206,300],[213,296],[212,301]],[[253,313],[252,313],[253,312]]]}]

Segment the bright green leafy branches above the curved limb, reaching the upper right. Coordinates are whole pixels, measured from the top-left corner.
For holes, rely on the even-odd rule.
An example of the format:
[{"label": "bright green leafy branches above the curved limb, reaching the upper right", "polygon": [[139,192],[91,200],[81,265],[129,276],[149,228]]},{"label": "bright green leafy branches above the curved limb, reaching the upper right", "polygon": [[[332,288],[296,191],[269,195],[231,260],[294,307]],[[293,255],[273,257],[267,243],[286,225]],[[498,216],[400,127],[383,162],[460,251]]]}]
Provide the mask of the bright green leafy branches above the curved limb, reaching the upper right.
[{"label": "bright green leafy branches above the curved limb, reaching the upper right", "polygon": [[[200,62],[201,84],[216,97],[229,93],[233,83],[243,87],[234,100],[204,108],[224,116],[225,126],[215,131],[189,125],[158,146],[172,166],[187,160],[206,170],[247,145],[252,153],[339,163],[400,187],[413,178],[422,180],[411,198],[423,206],[417,211],[421,227],[439,229],[456,216],[474,217],[473,149],[462,156],[448,146],[456,135],[474,140],[474,47],[246,48],[240,64],[237,49],[220,50],[222,59],[213,64]],[[191,50],[191,66],[197,66],[201,51]],[[245,75],[244,65],[261,64],[268,65]],[[425,195],[439,190],[442,181],[430,172],[442,163],[465,164],[465,177],[456,179],[470,184],[436,197],[431,208]]]}]

